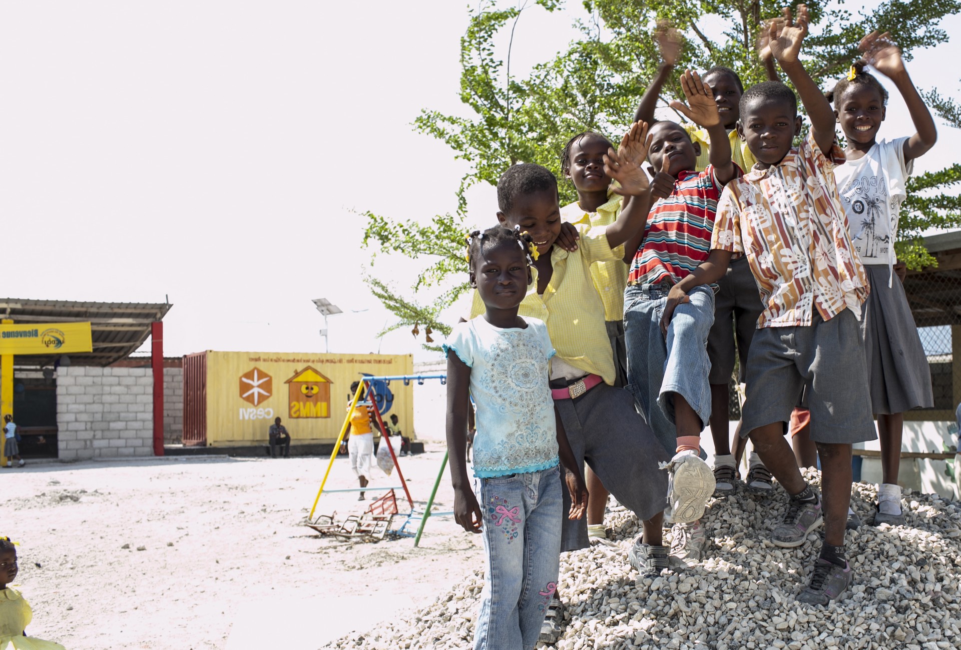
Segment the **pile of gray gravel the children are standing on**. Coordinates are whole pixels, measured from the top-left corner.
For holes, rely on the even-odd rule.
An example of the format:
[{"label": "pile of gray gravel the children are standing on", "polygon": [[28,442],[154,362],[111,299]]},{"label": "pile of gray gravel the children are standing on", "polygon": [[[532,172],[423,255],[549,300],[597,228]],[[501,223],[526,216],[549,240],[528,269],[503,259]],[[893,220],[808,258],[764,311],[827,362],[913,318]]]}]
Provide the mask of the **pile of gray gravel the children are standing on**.
[{"label": "pile of gray gravel the children are standing on", "polygon": [[[811,471],[811,483],[818,485]],[[875,486],[854,485],[852,505],[874,515]],[[627,551],[638,522],[611,502],[605,522],[616,545],[561,556],[558,592],[567,605],[560,650],[600,648],[961,648],[961,504],[935,494],[905,494],[906,523],[849,531],[854,584],[827,607],[795,601],[821,548],[812,534],[800,548],[769,542],[787,495],[755,500],[741,492],[711,502],[702,519],[713,543],[702,564],[654,580],[638,578]],[[398,616],[334,648],[468,648],[474,634],[480,571],[422,612]]]}]

